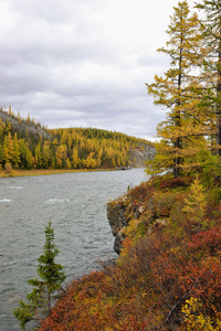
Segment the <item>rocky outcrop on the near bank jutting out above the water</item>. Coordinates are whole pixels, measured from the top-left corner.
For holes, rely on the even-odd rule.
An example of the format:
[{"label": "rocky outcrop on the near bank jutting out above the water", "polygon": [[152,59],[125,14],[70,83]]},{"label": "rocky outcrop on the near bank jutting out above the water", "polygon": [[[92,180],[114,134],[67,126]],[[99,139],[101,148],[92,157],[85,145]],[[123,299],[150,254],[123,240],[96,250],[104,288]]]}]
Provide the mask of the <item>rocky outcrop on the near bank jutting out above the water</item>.
[{"label": "rocky outcrop on the near bank jutting out above the water", "polygon": [[[189,185],[181,179],[170,181],[170,185],[186,186]],[[127,194],[117,200],[107,203],[107,218],[112,233],[115,236],[114,250],[119,254],[122,242],[126,236],[141,235],[154,228],[161,228],[167,224],[171,210],[179,201],[180,193],[167,191],[164,193],[162,188],[167,185],[161,183],[159,189],[156,189],[157,179],[151,179],[140,185],[131,189]]]}]

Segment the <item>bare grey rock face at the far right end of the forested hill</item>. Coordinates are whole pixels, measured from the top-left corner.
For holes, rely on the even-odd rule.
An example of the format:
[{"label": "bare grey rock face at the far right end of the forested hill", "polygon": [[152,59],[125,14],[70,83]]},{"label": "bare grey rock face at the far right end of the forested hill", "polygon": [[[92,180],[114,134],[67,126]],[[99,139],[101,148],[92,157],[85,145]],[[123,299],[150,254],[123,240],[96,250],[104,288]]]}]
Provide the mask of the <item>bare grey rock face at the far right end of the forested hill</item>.
[{"label": "bare grey rock face at the far right end of the forested hill", "polygon": [[139,143],[137,149],[129,150],[129,163],[134,168],[144,168],[145,162],[152,160],[156,153],[154,146]]}]

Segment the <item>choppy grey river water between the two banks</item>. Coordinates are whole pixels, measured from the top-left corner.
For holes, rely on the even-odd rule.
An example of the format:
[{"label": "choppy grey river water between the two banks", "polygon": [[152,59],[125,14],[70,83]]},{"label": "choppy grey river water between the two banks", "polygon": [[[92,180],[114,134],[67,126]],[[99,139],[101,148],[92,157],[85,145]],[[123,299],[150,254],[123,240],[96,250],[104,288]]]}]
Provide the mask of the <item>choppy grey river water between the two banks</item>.
[{"label": "choppy grey river water between the two banks", "polygon": [[50,218],[67,282],[114,257],[106,203],[147,180],[143,169],[0,179],[0,330],[20,330],[12,310],[32,290]]}]

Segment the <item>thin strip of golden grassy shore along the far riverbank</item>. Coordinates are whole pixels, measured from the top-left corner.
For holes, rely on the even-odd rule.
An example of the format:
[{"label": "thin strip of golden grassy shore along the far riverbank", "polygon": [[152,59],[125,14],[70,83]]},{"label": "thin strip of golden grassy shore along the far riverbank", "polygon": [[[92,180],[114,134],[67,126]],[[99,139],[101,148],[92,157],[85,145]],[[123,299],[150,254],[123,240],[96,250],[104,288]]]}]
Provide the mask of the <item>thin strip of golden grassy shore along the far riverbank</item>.
[{"label": "thin strip of golden grassy shore along the far riverbank", "polygon": [[72,172],[91,172],[91,171],[113,171],[115,169],[31,169],[31,170],[11,170],[6,172],[0,171],[0,178],[11,177],[29,177],[29,175],[49,175],[60,173],[72,173]]}]

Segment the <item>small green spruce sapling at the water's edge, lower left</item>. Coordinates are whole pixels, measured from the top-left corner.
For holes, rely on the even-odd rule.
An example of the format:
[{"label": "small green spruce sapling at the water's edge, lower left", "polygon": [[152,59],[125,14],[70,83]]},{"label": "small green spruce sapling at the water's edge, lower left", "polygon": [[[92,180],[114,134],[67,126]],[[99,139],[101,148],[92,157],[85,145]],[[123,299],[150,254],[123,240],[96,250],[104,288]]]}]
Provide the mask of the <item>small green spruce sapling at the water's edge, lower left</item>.
[{"label": "small green spruce sapling at the water's edge, lower left", "polygon": [[29,321],[38,321],[50,316],[53,298],[66,278],[64,271],[62,271],[63,266],[54,261],[60,250],[54,244],[54,229],[51,220],[44,233],[45,244],[43,254],[38,258],[36,268],[40,279],[28,280],[33,286],[32,292],[27,295],[29,303],[20,300],[20,306],[13,310],[13,314],[19,320],[22,330],[25,330],[25,324]]}]

